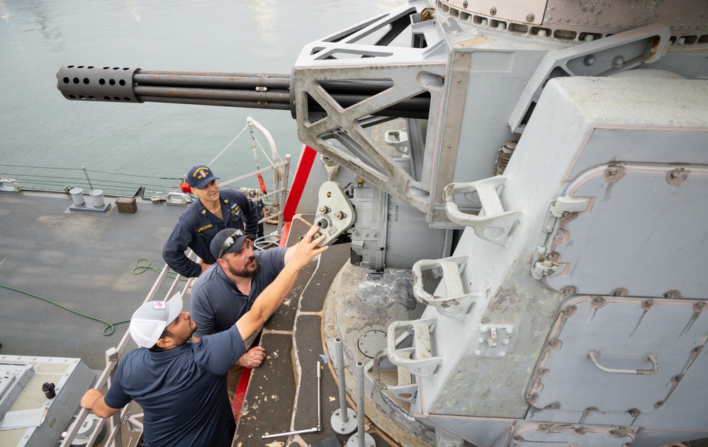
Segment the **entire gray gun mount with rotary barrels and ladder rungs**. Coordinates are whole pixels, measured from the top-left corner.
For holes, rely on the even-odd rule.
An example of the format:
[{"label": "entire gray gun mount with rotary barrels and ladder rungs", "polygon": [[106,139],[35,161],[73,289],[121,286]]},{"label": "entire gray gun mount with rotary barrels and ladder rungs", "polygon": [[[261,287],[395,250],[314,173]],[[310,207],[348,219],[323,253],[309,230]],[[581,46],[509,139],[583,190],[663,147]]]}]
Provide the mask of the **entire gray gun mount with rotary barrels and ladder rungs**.
[{"label": "entire gray gun mount with rotary barrels and ladder rungs", "polygon": [[[422,443],[659,446],[708,437],[702,6],[411,0],[291,77],[58,78],[71,99],[293,113],[328,242],[410,269],[425,305],[386,328],[398,381],[370,393]],[[126,91],[96,88],[116,71]]]}]

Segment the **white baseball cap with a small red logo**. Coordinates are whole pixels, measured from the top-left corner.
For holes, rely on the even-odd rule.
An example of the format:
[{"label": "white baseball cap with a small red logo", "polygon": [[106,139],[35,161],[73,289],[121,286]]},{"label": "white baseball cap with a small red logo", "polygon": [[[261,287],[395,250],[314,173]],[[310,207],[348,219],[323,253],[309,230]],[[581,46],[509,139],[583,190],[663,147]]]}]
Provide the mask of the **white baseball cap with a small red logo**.
[{"label": "white baseball cap with a small red logo", "polygon": [[137,346],[152,348],[162,331],[182,312],[182,295],[175,293],[168,301],[148,301],[130,318],[130,336]]}]

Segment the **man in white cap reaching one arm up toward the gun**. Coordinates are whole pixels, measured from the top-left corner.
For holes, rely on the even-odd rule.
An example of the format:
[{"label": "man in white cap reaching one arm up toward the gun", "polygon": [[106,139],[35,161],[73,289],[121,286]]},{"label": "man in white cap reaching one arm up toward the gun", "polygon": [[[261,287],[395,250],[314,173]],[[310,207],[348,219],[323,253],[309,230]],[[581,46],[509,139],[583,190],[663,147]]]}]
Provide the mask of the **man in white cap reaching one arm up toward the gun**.
[{"label": "man in white cap reaching one arm up toward the gun", "polygon": [[[227,371],[245,353],[244,339],[261,329],[293,288],[300,270],[327,247],[317,247],[310,228],[278,277],[251,309],[225,332],[189,341],[196,329],[182,312],[178,294],[150,301],[130,319],[130,335],[140,346],[123,356],[104,396],[86,391],[82,407],[109,417],[131,400],[142,407],[146,445],[230,447],[236,424],[226,392]],[[308,242],[310,241],[310,242]]]}]

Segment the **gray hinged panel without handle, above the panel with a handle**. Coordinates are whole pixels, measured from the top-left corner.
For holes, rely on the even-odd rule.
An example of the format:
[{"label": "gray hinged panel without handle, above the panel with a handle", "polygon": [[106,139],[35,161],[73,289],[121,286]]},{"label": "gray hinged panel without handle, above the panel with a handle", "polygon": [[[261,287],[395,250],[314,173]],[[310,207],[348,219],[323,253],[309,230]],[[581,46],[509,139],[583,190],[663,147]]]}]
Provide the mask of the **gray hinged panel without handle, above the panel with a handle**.
[{"label": "gray hinged panel without handle, above the panel with a handle", "polygon": [[629,166],[614,178],[588,171],[569,186],[572,196],[591,198],[592,205],[556,239],[556,261],[566,273],[547,276],[549,287],[599,295],[623,288],[624,295],[653,297],[678,290],[672,295],[705,297],[708,230],[699,222],[708,209],[708,172],[686,166],[678,174],[685,179],[674,183],[674,168]]}]

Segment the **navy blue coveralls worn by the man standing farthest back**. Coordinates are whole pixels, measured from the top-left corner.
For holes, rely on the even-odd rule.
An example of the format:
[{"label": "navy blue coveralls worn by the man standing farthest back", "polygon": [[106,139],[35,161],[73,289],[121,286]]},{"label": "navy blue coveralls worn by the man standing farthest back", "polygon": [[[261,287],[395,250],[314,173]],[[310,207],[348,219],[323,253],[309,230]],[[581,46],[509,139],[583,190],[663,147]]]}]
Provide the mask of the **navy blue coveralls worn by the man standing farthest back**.
[{"label": "navy blue coveralls worn by the man standing farthest back", "polygon": [[218,232],[225,228],[240,228],[246,234],[258,232],[256,205],[244,193],[224,188],[219,192],[219,199],[224,220],[206,210],[200,200],[194,200],[179,217],[162,247],[162,258],[181,276],[192,278],[201,274],[201,266],[184,254],[188,247],[206,264],[214,264],[216,259],[209,244]]}]

